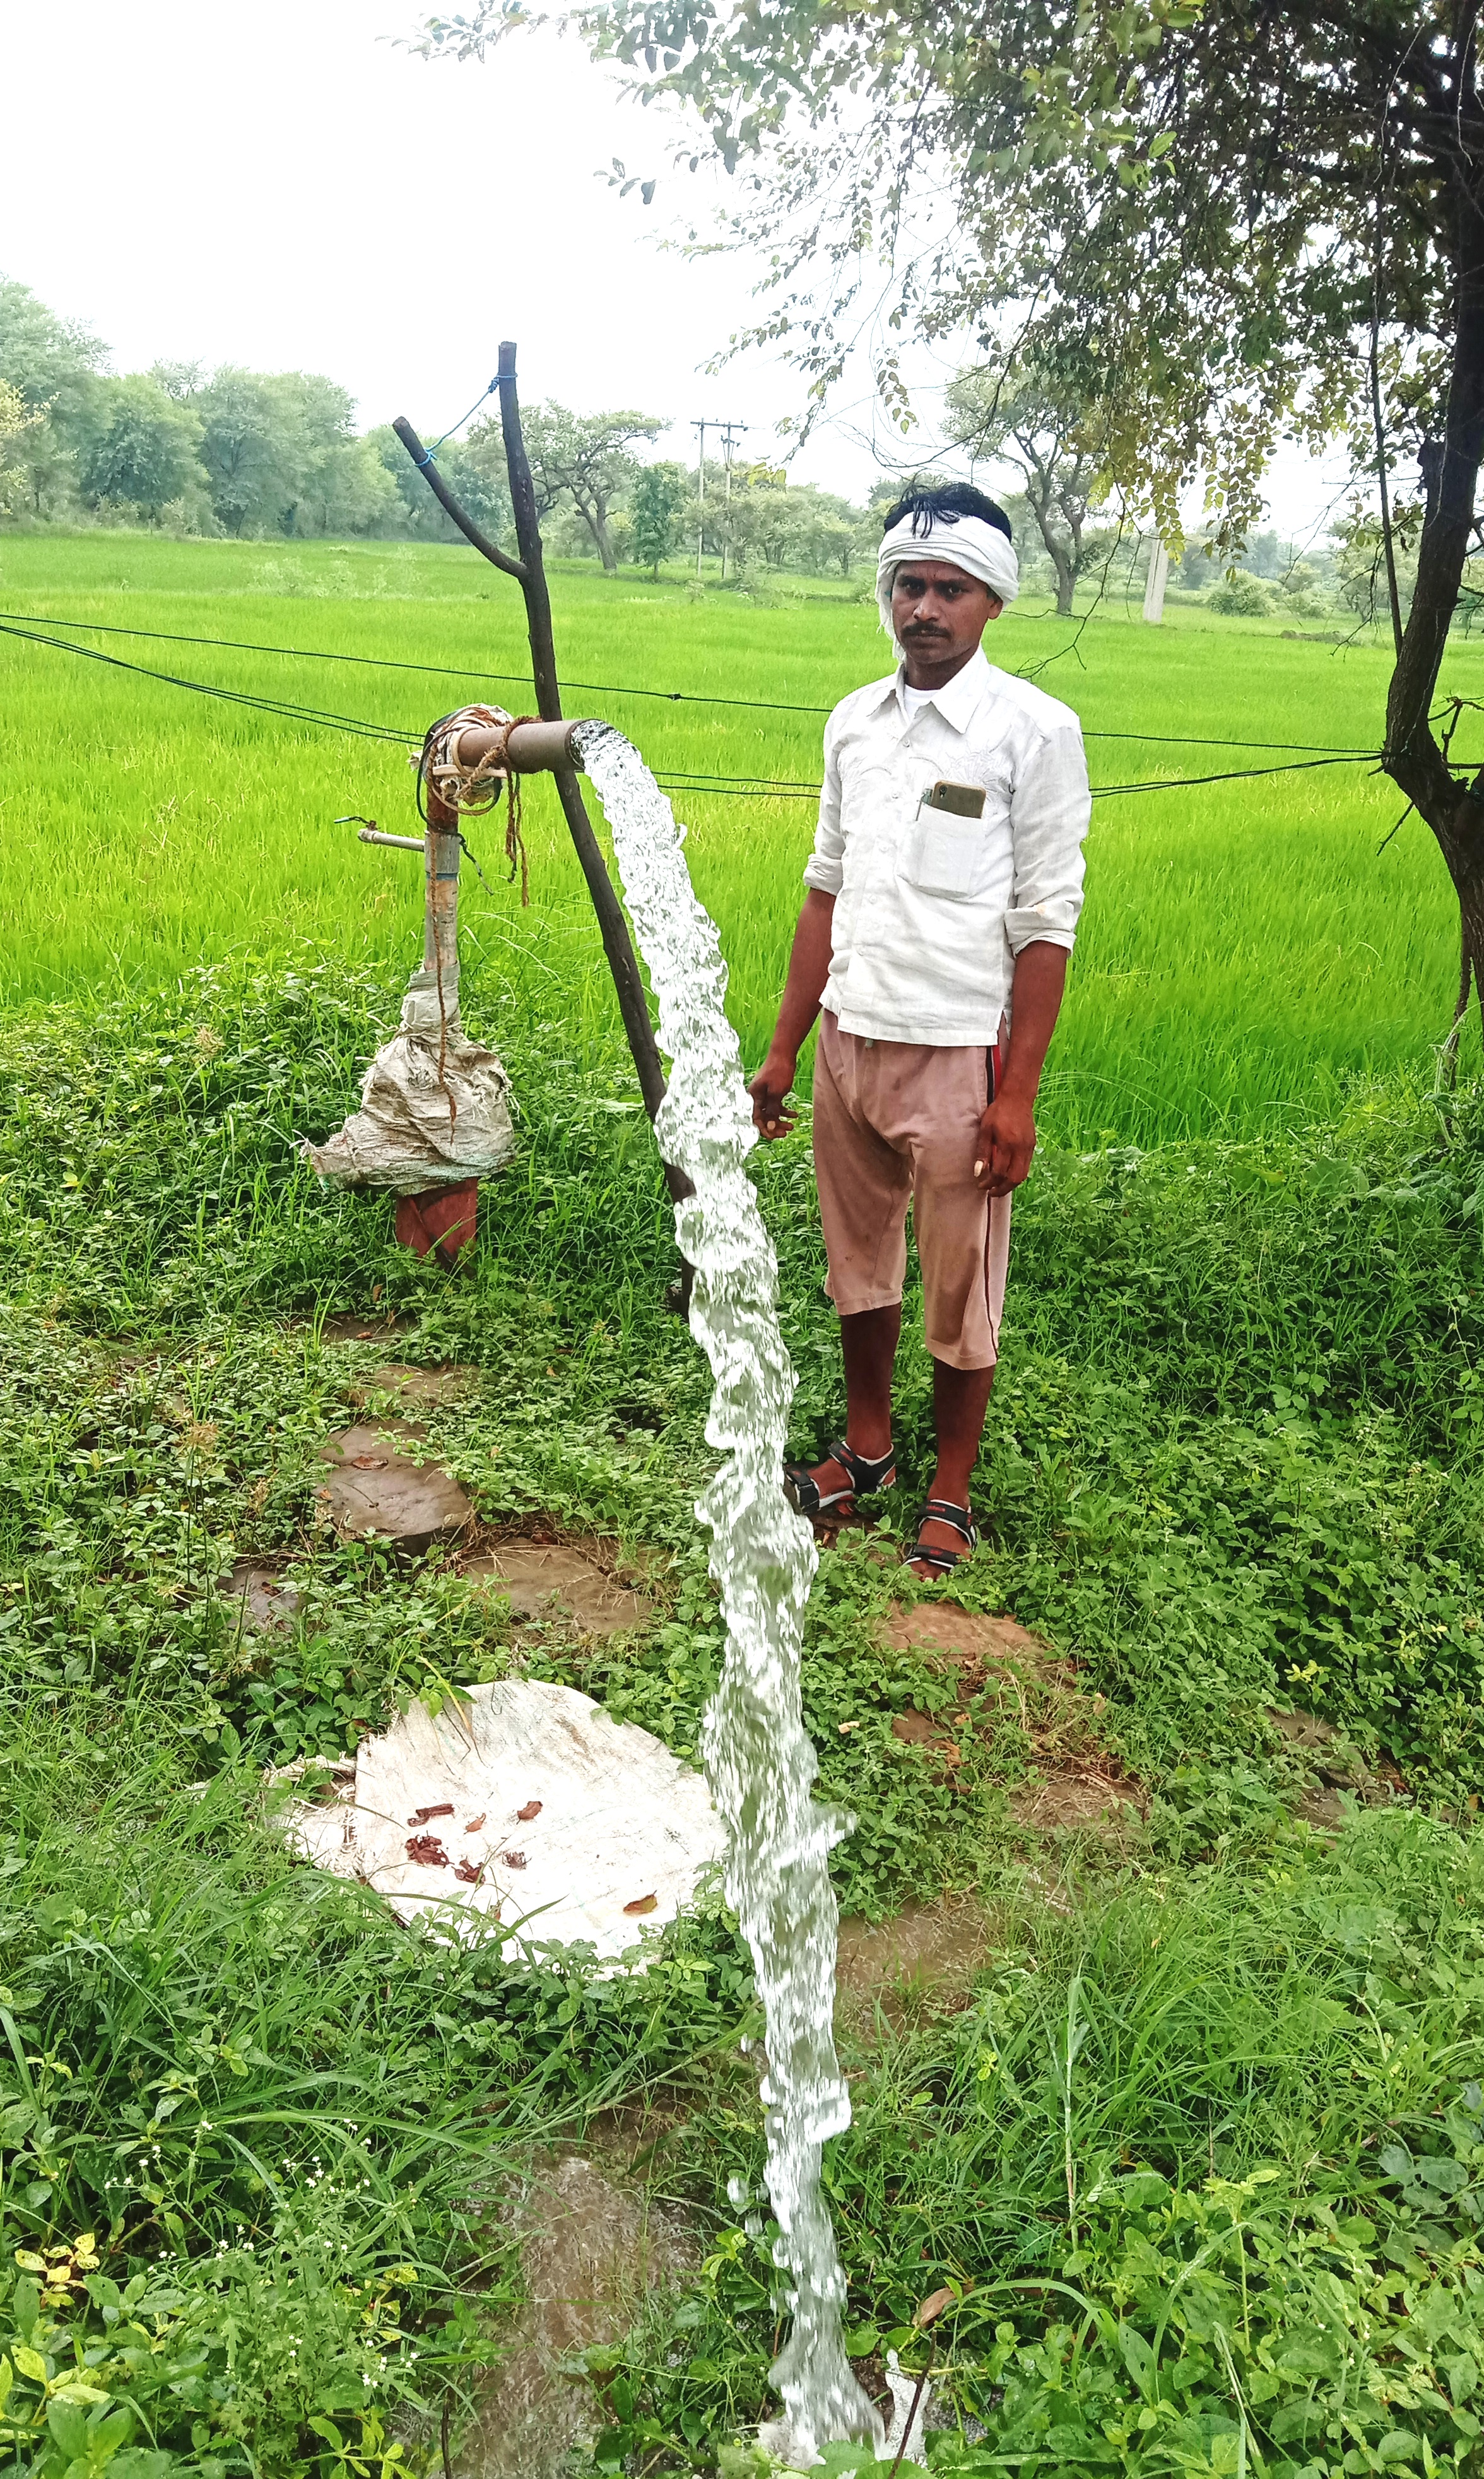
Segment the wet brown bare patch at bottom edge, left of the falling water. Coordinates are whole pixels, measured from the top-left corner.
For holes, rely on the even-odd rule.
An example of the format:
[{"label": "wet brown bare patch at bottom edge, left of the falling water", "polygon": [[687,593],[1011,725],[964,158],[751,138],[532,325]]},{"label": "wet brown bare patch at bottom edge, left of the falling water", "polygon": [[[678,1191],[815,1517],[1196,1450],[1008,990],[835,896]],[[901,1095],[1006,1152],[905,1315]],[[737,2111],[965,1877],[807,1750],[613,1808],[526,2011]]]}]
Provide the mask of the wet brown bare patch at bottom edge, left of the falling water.
[{"label": "wet brown bare patch at bottom edge, left of the falling water", "polygon": [[528,2303],[453,2454],[458,2479],[557,2479],[607,2424],[597,2387],[562,2375],[562,2360],[622,2343],[654,2291],[699,2261],[679,2214],[590,2159],[538,2162],[508,2209]]}]

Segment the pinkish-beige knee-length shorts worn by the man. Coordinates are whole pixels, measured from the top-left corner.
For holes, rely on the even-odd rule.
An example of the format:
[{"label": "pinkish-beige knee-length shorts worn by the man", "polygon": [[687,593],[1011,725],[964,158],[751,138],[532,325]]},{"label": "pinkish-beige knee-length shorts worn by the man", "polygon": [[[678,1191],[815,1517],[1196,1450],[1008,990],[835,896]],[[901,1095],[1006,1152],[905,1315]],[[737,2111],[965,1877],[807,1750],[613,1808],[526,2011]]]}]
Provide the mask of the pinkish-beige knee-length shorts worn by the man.
[{"label": "pinkish-beige knee-length shorts worn by the man", "polygon": [[840,1316],[889,1309],[907,1279],[907,1205],[922,1259],[927,1349],[993,1368],[1011,1262],[1011,1200],[974,1185],[996,1051],[865,1041],[820,1019],[815,1178]]}]

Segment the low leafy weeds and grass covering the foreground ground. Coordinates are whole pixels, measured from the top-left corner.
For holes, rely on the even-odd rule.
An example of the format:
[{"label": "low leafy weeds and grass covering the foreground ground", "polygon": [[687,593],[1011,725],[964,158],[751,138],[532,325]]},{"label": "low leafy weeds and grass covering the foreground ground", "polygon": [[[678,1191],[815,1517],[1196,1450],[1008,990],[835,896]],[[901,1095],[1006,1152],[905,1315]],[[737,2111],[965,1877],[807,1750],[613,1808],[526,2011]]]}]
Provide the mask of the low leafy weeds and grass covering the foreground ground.
[{"label": "low leafy weeds and grass covering the foreground ground", "polygon": [[[300,949],[0,1031],[0,2434],[45,2479],[436,2462],[520,2286],[510,2174],[629,2102],[661,2105],[654,2174],[706,2256],[590,2355],[597,2464],[746,2472],[768,2402],[770,2234],[728,2199],[758,2023],[718,1904],[629,1981],[448,1951],[290,1864],[265,1807],[265,1763],[508,1673],[691,1750],[718,1658],[706,1386],[622,1054],[471,974],[520,1153],[443,1277],[295,1153],[396,979]],[[758,1180],[813,1448],[805,1135]],[[1117,1842],[1013,1822],[1036,1715],[991,1683],[951,1777],[892,1730],[954,1701],[882,1636],[927,1455],[907,1346],[902,1500],[823,1557],[805,1708],[860,1820],[845,1904],[976,1884],[996,1916],[964,2010],[850,2033],[830,2157],[852,2345],[867,2375],[934,2350],[944,2472],[1479,2467],[1482,1195],[1482,1101],[1392,1078],[1313,1128],[1050,1148],[1018,1202],[959,1596],[1075,1663],[1145,1787]],[[334,1341],[337,1311],[384,1339]],[[315,1450],[389,1349],[481,1371],[429,1416],[481,1522],[607,1542],[647,1629],[515,1631],[456,1559],[325,1532]],[[287,1636],[230,1624],[240,1554],[302,1592]],[[1291,1703],[1407,1797],[1296,1822]]]}]

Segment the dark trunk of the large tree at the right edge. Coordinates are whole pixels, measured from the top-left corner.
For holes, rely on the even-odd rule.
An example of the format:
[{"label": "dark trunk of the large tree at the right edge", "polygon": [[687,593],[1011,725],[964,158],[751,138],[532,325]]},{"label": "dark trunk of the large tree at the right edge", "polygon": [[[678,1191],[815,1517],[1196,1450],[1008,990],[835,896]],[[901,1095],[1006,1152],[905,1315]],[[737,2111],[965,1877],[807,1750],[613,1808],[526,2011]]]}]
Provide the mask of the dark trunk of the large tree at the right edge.
[{"label": "dark trunk of the large tree at the right edge", "polygon": [[[1479,121],[1477,104],[1469,119]],[[1432,697],[1474,531],[1474,491],[1484,459],[1484,203],[1464,183],[1484,131],[1469,131],[1454,171],[1454,354],[1442,444],[1425,454],[1427,511],[1417,545],[1417,588],[1387,697],[1382,766],[1432,828],[1459,900],[1459,1004],[1449,1034],[1457,1051],[1469,984],[1484,1024],[1484,768],[1462,781],[1432,731]]]}]

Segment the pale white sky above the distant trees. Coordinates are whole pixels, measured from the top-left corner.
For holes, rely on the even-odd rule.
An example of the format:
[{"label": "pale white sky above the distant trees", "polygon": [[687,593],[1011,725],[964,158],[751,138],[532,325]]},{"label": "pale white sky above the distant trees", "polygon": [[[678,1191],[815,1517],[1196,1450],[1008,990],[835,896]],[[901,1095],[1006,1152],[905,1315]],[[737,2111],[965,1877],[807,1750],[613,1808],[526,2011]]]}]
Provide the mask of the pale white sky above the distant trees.
[{"label": "pale white sky above the distant trees", "polygon": [[[429,0],[431,5],[431,0]],[[154,359],[320,369],[359,421],[411,414],[431,436],[520,347],[523,399],[751,424],[738,454],[778,456],[800,382],[748,352],[706,359],[748,322],[756,268],[661,243],[709,223],[714,176],[671,174],[676,124],[624,104],[575,45],[525,35],[481,64],[424,62],[396,35],[424,0],[72,0],[5,10],[0,273],[109,342]],[[595,171],[659,174],[654,206]],[[919,364],[949,377],[951,364]],[[852,372],[800,481],[862,496],[914,456]],[[932,387],[922,399],[932,421]],[[932,444],[924,434],[924,449]],[[1273,471],[1273,518],[1323,501],[1301,459]]]}]

